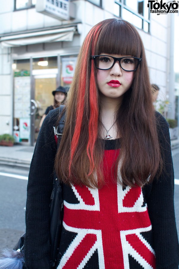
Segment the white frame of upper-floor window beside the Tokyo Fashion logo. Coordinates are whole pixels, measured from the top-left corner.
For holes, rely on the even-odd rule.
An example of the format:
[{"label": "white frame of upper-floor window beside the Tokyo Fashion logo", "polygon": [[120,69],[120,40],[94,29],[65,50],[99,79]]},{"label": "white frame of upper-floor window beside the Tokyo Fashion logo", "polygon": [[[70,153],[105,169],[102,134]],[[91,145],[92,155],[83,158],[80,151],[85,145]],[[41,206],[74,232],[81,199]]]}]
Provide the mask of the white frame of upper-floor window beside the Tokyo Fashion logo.
[{"label": "white frame of upper-floor window beside the Tokyo Fashion logo", "polygon": [[[129,12],[131,12],[132,14],[134,14],[135,16],[137,16],[140,19],[142,19],[142,27],[139,28],[139,29],[145,31],[144,30],[144,22],[147,22],[149,24],[148,31],[147,32],[145,31],[145,32],[146,33],[150,33],[150,12],[148,11],[148,15],[149,15],[148,17],[149,17],[149,19],[146,19],[143,15],[139,14],[138,12],[136,12],[135,10],[133,10],[132,8],[130,8],[129,6],[127,6],[126,4],[124,4],[124,2],[125,2],[125,0],[115,0],[115,4],[118,4],[120,6],[120,9],[119,9],[119,17],[123,19],[123,16],[122,16],[123,9],[128,10]],[[144,2],[145,2],[145,0],[144,0]]]}]

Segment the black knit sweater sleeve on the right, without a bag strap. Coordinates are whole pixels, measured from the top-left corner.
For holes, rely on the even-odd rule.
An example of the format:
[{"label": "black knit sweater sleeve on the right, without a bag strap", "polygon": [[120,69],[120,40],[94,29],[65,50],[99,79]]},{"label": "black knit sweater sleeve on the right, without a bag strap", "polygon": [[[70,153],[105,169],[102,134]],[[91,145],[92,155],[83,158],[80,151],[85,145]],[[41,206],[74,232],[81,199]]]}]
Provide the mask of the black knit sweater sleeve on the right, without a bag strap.
[{"label": "black knit sweater sleeve on the right, without a bag strap", "polygon": [[157,269],[178,269],[179,246],[174,212],[174,171],[168,123],[156,113],[158,136],[163,159],[162,173],[146,193],[152,223]]}]

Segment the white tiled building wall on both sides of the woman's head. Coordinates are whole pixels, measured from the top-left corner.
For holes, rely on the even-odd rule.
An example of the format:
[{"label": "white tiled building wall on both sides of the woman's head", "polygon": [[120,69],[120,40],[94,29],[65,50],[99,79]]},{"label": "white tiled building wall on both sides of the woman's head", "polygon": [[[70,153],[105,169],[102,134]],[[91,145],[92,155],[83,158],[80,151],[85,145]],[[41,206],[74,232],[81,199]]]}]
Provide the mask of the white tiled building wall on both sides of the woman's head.
[{"label": "white tiled building wall on both sides of the woman's head", "polygon": [[[12,133],[13,114],[13,78],[12,59],[14,57],[30,57],[44,54],[64,52],[78,52],[82,42],[93,25],[101,20],[113,18],[119,14],[119,5],[113,0],[102,0],[102,8],[86,0],[73,1],[76,5],[76,18],[71,21],[60,21],[49,16],[37,13],[35,8],[13,11],[14,0],[2,1],[0,9],[0,35],[12,34],[20,31],[43,29],[78,24],[78,35],[74,35],[72,42],[54,42],[21,46],[7,49],[0,48],[0,134]],[[145,4],[147,4],[146,1]],[[169,95],[167,88],[168,74],[168,25],[169,15],[150,14],[150,33],[138,29],[146,49],[151,83],[160,87],[159,98],[165,99]],[[173,15],[173,14],[172,14]]]}]

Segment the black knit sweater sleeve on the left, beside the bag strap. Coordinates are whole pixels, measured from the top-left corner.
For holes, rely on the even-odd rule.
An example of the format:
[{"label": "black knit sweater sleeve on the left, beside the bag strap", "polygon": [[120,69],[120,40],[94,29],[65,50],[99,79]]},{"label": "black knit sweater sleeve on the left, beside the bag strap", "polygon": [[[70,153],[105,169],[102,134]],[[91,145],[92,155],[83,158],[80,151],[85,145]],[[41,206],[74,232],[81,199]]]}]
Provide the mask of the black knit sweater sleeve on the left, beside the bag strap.
[{"label": "black knit sweater sleeve on the left, beside the bag strap", "polygon": [[49,214],[56,143],[53,126],[58,109],[45,118],[36,142],[27,185],[25,264],[29,269],[50,268]]}]

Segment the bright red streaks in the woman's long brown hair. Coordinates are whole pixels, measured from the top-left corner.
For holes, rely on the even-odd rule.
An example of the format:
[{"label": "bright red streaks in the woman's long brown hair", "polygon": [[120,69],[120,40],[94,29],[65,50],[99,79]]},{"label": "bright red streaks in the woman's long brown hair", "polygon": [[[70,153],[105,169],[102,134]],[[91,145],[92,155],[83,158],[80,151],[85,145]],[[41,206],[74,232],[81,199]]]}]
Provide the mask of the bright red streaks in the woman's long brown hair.
[{"label": "bright red streaks in the woman's long brown hair", "polygon": [[[87,38],[85,39],[84,45],[83,45],[83,52],[82,52],[82,58],[87,59],[89,57],[89,49],[90,44],[92,40],[92,52],[94,51],[95,44],[97,42],[97,37],[99,35],[98,30],[101,27],[99,25],[95,30],[92,28],[89,34],[87,35]],[[97,34],[98,33],[98,34]],[[78,86],[78,96],[77,96],[77,110],[76,110],[76,124],[75,124],[75,130],[71,141],[71,158],[70,158],[70,164],[69,164],[69,176],[70,176],[70,169],[72,165],[72,159],[75,154],[75,150],[78,146],[79,142],[79,136],[81,133],[81,126],[82,126],[82,120],[83,120],[83,114],[84,114],[84,95],[85,95],[85,89],[86,89],[86,77],[87,77],[87,64],[88,61],[84,61],[81,65],[81,72],[80,74],[83,74],[81,76],[81,80],[79,81]],[[98,133],[98,97],[96,92],[96,85],[95,85],[95,76],[94,76],[94,65],[91,65],[91,77],[90,77],[90,120],[89,120],[89,139],[87,143],[87,155],[90,160],[90,173],[92,173],[92,170],[94,169],[94,158],[93,158],[93,151],[94,151],[94,145],[97,138]]]}]

